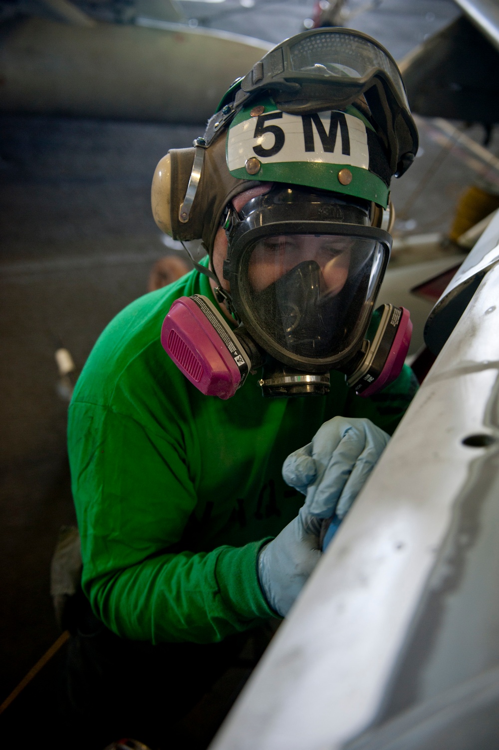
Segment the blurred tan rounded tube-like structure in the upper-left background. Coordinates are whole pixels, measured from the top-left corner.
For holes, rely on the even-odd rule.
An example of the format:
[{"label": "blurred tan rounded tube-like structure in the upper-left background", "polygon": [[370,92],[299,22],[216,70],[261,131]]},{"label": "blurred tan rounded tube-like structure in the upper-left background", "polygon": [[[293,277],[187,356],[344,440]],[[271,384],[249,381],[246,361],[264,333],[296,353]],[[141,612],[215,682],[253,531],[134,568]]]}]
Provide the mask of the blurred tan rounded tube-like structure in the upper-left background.
[{"label": "blurred tan rounded tube-like structure in the upper-left background", "polygon": [[271,47],[178,23],[86,19],[20,17],[5,25],[0,112],[203,123],[220,92]]}]

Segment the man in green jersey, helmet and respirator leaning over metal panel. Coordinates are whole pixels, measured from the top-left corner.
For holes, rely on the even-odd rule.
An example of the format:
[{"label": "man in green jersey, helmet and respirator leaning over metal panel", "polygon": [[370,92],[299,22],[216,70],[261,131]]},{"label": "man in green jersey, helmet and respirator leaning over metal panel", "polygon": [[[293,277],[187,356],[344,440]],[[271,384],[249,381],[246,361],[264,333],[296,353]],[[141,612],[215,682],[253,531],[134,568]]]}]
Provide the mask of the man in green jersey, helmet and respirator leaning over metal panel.
[{"label": "man in green jersey, helmet and respirator leaning over metal panel", "polygon": [[[377,55],[371,77],[353,75],[362,51]],[[155,219],[203,239],[209,260],[110,323],[71,402],[92,611],[70,682],[92,736],[157,738],[166,687],[173,721],[239,634],[287,614],[412,398],[407,314],[371,321],[389,178],[417,148],[393,66],[362,34],[299,34],[158,165]],[[128,678],[131,703],[111,697],[111,676]]]}]

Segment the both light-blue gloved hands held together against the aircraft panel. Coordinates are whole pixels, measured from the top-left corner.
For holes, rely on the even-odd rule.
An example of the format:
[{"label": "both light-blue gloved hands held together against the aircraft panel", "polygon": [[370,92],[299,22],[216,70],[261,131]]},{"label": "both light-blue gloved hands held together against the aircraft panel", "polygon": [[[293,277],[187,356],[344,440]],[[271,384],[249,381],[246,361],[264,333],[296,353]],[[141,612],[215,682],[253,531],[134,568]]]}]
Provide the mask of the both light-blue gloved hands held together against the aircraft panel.
[{"label": "both light-blue gloved hands held together against the aircraft panel", "polygon": [[287,615],[320,559],[323,519],[335,514],[334,533],[388,440],[368,419],[334,417],[308,446],[284,461],[284,481],[306,499],[297,517],[258,556],[260,586],[278,614]]}]

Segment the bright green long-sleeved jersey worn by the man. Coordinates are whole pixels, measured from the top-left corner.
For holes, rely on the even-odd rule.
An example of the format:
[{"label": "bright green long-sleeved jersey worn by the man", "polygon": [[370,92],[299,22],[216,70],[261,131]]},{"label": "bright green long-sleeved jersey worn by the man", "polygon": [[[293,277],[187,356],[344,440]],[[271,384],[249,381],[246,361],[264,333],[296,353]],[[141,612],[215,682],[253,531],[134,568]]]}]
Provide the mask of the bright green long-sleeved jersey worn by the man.
[{"label": "bright green long-sleeved jersey worn by the man", "polygon": [[125,308],[95,344],[69,409],[68,449],[95,614],[134,640],[209,643],[276,616],[257,578],[265,541],[304,497],[281,468],[334,416],[390,434],[416,390],[411,371],[372,398],[331,373],[331,392],[266,399],[257,376],[233,398],[197,391],[161,347],[174,299],[203,294],[193,271]]}]

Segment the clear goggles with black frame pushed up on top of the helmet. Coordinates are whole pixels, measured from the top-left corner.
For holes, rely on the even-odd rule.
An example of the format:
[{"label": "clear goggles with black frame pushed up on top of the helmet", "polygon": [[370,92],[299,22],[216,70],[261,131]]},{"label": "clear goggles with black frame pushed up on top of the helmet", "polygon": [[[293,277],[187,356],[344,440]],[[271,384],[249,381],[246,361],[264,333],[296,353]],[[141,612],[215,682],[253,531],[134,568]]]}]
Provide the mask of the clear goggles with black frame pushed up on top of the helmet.
[{"label": "clear goggles with black frame pushed up on top of the helmet", "polygon": [[291,114],[344,110],[364,96],[392,171],[401,175],[416,155],[417,129],[395,60],[361,31],[316,28],[285,40],[239,86],[236,106],[270,92],[277,107]]}]

